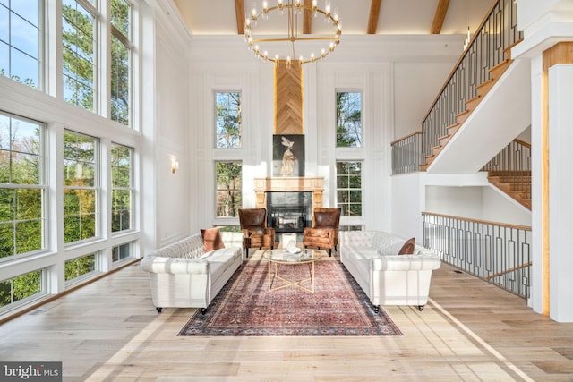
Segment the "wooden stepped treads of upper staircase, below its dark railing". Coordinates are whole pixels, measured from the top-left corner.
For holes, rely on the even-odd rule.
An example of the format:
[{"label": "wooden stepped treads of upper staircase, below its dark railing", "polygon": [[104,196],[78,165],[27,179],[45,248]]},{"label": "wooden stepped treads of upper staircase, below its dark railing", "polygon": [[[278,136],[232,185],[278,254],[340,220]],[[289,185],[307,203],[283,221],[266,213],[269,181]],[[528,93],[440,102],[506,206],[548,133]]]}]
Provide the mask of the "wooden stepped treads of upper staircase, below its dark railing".
[{"label": "wooden stepped treads of upper staircase, below its dark railing", "polygon": [[490,69],[491,78],[488,81],[483,82],[482,84],[477,86],[477,96],[475,98],[469,99],[466,101],[466,110],[456,115],[456,123],[452,124],[451,126],[447,127],[447,134],[443,137],[440,137],[438,146],[432,147],[432,154],[425,157],[425,163],[420,165],[420,171],[426,171],[428,166],[432,164],[432,161],[438,157],[440,154],[441,149],[443,149],[446,144],[451,140],[456,132],[458,132],[461,125],[466,122],[466,119],[475,108],[480,104],[482,99],[485,95],[493,88],[493,85],[500,79],[501,75],[509,68],[511,64],[511,59],[506,59],[505,61],[497,64],[496,66]]}]

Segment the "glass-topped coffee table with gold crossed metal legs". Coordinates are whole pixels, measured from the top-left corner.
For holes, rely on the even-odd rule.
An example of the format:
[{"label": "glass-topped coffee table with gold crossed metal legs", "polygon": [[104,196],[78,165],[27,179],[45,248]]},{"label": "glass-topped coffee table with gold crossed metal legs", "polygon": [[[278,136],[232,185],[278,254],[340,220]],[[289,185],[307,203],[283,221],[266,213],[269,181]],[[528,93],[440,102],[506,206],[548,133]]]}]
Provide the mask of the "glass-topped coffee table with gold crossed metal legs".
[{"label": "glass-topped coffee table with gold crossed metal legs", "polygon": [[[286,250],[265,250],[263,253],[263,258],[269,260],[269,292],[278,291],[278,289],[286,288],[287,286],[298,286],[304,291],[314,293],[314,261],[321,259],[322,250],[301,250],[299,253],[289,253]],[[272,264],[275,265],[274,273],[271,272]],[[303,278],[301,280],[289,280],[285,277],[278,276],[278,267],[280,265],[294,266],[306,264],[309,267],[310,277]],[[272,287],[275,279],[282,280],[286,284],[282,284],[276,287]],[[307,288],[302,285],[304,282],[311,282],[312,287]]]}]

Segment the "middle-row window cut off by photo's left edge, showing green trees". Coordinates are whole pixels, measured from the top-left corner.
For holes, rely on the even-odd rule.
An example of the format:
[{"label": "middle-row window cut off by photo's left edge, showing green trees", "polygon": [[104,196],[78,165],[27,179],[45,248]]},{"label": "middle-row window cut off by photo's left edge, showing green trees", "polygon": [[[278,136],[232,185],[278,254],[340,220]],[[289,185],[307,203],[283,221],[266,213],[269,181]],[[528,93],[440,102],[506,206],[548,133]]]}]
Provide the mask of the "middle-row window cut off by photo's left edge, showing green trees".
[{"label": "middle-row window cut off by photo's left edge, showing green trees", "polygon": [[0,113],[0,258],[42,250],[43,123]]}]

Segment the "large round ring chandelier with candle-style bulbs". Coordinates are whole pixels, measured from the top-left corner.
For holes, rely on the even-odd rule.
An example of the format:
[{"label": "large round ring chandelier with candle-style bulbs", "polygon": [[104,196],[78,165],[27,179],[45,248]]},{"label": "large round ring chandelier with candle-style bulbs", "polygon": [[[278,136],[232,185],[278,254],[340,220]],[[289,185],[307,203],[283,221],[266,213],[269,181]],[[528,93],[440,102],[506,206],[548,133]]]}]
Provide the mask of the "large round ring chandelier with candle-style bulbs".
[{"label": "large round ring chandelier with candle-style bulbs", "polygon": [[[266,61],[278,65],[313,63],[334,52],[340,42],[342,26],[338,20],[338,10],[330,11],[330,1],[325,0],[324,9],[318,7],[318,0],[312,0],[312,4],[302,4],[302,0],[278,0],[277,5],[269,8],[267,1],[262,2],[262,9],[258,11],[256,3],[252,4],[251,14],[247,14],[244,24],[244,38],[252,53]],[[304,13],[310,13],[312,18],[319,14],[324,16],[324,21],[332,33],[312,35],[298,34],[298,19]],[[267,21],[277,25],[278,21],[284,23],[286,14],[287,30],[285,37],[255,36],[255,30],[259,21]],[[272,16],[272,20],[269,20]],[[271,50],[273,49],[273,50]],[[318,50],[315,50],[318,49]]]}]

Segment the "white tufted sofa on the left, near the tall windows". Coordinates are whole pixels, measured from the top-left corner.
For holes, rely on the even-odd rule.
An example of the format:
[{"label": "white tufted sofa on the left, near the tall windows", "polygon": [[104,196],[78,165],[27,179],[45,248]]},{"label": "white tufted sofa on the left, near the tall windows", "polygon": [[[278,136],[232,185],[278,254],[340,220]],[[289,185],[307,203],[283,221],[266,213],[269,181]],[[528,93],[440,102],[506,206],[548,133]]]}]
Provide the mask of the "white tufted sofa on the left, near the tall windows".
[{"label": "white tufted sofa on the left, near the tall windows", "polygon": [[241,247],[204,252],[201,233],[154,250],[141,260],[149,272],[153,304],[163,308],[201,308],[210,302],[243,262]]}]

